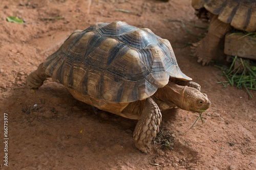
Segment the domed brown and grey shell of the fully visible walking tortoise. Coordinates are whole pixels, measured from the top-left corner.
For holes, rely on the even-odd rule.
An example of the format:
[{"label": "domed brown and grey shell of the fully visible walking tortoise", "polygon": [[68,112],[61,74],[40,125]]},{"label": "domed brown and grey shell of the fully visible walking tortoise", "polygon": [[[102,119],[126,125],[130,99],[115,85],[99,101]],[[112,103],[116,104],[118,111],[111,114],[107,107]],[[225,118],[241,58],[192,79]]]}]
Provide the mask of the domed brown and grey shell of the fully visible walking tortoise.
[{"label": "domed brown and grey shell of the fully visible walking tortoise", "polygon": [[121,21],[74,31],[44,67],[70,91],[113,104],[146,99],[169,78],[191,80],[168,40]]}]

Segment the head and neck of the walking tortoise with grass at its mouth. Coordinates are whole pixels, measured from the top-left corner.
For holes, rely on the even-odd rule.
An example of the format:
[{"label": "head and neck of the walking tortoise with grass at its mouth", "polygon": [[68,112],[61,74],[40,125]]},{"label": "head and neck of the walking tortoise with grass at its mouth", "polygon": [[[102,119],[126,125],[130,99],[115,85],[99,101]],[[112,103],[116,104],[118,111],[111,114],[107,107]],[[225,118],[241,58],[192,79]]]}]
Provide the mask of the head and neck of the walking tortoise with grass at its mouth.
[{"label": "head and neck of the walking tortoise with grass at its mouth", "polygon": [[207,95],[198,89],[171,82],[158,89],[155,98],[161,110],[171,108],[175,104],[181,109],[201,113],[211,105]]}]

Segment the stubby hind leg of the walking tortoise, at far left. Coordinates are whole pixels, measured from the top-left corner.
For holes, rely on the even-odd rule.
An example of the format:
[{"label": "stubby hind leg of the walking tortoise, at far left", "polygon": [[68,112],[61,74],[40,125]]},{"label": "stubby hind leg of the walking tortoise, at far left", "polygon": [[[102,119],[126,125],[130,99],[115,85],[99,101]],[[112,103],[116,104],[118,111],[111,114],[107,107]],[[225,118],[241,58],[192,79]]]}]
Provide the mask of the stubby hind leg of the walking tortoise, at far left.
[{"label": "stubby hind leg of the walking tortoise, at far left", "polygon": [[46,78],[49,78],[50,76],[46,75],[46,68],[42,66],[44,63],[41,63],[38,68],[31,72],[31,74],[27,77],[27,85],[29,85],[32,88],[38,88],[40,87]]}]

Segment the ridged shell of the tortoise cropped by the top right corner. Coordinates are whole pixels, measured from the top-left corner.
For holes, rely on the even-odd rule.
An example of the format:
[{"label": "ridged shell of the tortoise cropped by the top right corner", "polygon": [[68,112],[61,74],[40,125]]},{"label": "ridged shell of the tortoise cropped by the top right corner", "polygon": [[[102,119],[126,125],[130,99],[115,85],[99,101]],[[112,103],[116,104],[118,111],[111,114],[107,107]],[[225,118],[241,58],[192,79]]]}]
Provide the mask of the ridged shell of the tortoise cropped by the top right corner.
[{"label": "ridged shell of the tortoise cropped by the top right corner", "polygon": [[205,8],[238,30],[256,31],[255,0],[193,0],[195,9]]}]

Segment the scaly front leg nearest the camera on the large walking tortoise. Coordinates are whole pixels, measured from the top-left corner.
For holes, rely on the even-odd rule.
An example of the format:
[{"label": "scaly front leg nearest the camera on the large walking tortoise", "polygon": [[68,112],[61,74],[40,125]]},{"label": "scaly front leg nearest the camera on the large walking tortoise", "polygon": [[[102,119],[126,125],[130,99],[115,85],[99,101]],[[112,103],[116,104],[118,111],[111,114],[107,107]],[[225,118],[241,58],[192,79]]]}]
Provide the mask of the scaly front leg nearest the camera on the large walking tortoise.
[{"label": "scaly front leg nearest the camera on the large walking tortoise", "polygon": [[162,114],[153,99],[146,99],[143,111],[138,120],[133,133],[135,145],[140,151],[148,153],[150,143],[152,139],[156,138],[162,121]]}]

